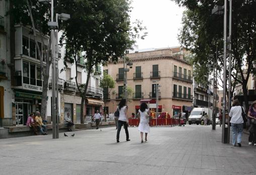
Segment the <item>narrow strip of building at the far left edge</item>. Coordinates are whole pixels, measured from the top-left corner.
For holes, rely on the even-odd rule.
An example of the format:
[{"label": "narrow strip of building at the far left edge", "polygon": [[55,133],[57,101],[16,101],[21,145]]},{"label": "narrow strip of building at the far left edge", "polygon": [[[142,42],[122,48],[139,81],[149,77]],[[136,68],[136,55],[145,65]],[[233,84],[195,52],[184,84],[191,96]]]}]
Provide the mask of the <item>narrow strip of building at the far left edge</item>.
[{"label": "narrow strip of building at the far left edge", "polygon": [[0,1],[0,126],[13,124],[9,6],[9,1]]}]

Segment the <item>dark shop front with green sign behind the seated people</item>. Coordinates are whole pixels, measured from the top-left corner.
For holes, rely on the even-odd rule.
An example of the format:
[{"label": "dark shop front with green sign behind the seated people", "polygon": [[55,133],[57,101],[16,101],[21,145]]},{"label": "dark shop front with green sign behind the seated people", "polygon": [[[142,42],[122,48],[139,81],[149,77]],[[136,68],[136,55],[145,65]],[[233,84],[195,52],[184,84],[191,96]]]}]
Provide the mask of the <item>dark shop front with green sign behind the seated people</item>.
[{"label": "dark shop front with green sign behind the seated people", "polygon": [[15,92],[16,125],[26,125],[30,113],[36,114],[41,110],[41,93],[39,92]]}]

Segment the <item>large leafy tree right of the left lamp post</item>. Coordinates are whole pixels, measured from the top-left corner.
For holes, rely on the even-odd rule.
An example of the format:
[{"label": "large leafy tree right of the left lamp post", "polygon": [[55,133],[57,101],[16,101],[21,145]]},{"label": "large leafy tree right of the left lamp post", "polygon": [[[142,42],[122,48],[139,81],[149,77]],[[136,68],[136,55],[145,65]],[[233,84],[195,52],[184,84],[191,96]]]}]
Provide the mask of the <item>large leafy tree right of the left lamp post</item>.
[{"label": "large leafy tree right of the left lamp post", "polygon": [[[81,123],[84,123],[83,105],[90,76],[96,73],[94,66],[118,61],[144,28],[139,23],[139,27],[132,27],[130,1],[126,0],[60,0],[58,9],[71,15],[68,23],[62,23],[65,28],[61,38],[66,43],[65,61],[69,60],[77,68],[77,63],[83,59],[82,66],[87,73],[87,81],[81,85],[77,83],[77,71],[75,76],[81,97],[80,118]],[[144,34],[140,37],[143,38]],[[82,56],[78,57],[79,52]]]}]

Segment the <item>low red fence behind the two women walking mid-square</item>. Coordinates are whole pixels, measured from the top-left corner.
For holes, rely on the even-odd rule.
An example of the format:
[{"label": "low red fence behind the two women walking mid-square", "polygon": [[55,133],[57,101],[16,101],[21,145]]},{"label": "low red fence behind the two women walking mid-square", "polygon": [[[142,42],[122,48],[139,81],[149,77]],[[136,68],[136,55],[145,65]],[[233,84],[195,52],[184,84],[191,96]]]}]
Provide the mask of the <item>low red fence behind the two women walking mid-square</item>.
[{"label": "low red fence behind the two women walking mid-square", "polygon": [[[157,119],[157,126],[160,125],[178,125],[179,120],[174,118],[158,118]],[[129,125],[130,126],[138,126],[139,125],[139,119],[129,119]],[[150,126],[156,125],[156,119],[153,118],[150,120],[149,123]]]}]

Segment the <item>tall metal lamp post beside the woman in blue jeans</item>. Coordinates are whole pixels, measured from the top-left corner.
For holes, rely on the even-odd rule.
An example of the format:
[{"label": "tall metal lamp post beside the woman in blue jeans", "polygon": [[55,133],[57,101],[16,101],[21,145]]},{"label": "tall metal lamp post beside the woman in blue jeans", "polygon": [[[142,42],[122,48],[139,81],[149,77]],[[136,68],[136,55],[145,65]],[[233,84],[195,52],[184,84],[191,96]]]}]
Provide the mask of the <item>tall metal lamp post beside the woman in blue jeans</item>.
[{"label": "tall metal lamp post beside the woman in blue jeans", "polygon": [[[223,14],[224,9],[224,53],[223,53],[223,110],[222,110],[222,143],[229,143],[229,117],[227,120],[227,127],[225,126],[225,114],[226,114],[226,69],[227,69],[227,0],[224,0],[224,6],[216,6],[212,10],[212,14],[214,15],[221,15]],[[228,43],[229,43],[229,74],[228,74],[228,80],[229,80],[229,86],[228,86],[228,112],[230,109],[230,90],[231,90],[231,14],[232,14],[232,0],[229,0],[229,37],[228,37]]]}]

